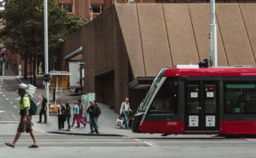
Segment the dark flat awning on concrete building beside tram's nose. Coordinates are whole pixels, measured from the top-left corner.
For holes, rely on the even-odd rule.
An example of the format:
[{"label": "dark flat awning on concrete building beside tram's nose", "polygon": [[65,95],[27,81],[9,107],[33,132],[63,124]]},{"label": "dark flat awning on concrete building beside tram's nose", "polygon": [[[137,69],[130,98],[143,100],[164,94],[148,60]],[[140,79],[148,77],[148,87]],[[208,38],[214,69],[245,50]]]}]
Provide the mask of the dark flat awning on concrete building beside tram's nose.
[{"label": "dark flat awning on concrete building beside tram's nose", "polygon": [[149,88],[155,77],[137,77],[129,82],[129,89],[147,89]]}]

